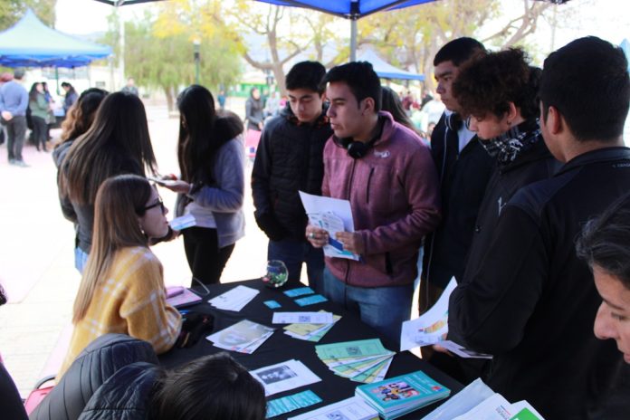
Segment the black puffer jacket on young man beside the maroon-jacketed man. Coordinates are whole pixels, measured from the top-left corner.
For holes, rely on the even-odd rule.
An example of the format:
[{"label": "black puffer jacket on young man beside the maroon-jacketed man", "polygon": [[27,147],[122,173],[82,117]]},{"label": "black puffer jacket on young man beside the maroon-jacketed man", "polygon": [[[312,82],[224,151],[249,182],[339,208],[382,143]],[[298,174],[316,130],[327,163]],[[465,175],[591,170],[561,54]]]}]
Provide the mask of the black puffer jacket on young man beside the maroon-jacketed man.
[{"label": "black puffer jacket on young man beside the maroon-jacketed man", "polygon": [[262,130],[253,163],[253,205],[256,223],[273,241],[304,239],[307,216],[298,191],[321,195],[323,150],[330,136],[326,109],[313,124],[304,124],[289,105]]}]

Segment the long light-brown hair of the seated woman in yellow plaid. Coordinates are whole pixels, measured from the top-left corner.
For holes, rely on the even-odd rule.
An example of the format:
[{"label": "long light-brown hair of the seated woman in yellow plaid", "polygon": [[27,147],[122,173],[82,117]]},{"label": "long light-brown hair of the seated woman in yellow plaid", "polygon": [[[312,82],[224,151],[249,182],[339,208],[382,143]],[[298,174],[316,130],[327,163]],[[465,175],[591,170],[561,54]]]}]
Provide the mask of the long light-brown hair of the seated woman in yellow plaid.
[{"label": "long light-brown hair of the seated woman in yellow plaid", "polygon": [[94,204],[91,252],[74,300],[73,323],[85,316],[94,291],[110,271],[116,252],[129,246],[148,246],[138,216],[144,215],[151,192],[147,178],[136,175],[111,177],[100,186]]}]

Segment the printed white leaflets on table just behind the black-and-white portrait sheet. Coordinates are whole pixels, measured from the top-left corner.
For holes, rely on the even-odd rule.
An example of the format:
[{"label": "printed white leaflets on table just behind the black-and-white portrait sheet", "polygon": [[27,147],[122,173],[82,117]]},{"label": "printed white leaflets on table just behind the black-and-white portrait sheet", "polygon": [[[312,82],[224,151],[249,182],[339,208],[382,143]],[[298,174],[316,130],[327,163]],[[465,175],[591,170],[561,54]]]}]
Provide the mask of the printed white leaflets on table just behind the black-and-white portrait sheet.
[{"label": "printed white leaflets on table just behind the black-and-white portrait sheet", "polygon": [[212,341],[218,348],[252,354],[256,348],[261,347],[262,343],[272,336],[274,330],[251,320],[242,320],[232,327],[207,336],[205,339]]}]

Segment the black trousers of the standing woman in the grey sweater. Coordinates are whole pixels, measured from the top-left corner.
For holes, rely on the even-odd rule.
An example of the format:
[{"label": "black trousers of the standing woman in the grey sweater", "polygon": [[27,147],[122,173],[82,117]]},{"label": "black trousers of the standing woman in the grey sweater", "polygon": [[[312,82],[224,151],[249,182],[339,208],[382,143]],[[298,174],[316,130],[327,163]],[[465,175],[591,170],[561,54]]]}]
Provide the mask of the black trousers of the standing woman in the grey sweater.
[{"label": "black trousers of the standing woman in the grey sweater", "polygon": [[[204,284],[218,283],[234,251],[234,243],[219,249],[216,229],[207,227],[189,227],[183,234],[186,260],[193,277]],[[196,282],[192,282],[192,285],[196,286]]]}]

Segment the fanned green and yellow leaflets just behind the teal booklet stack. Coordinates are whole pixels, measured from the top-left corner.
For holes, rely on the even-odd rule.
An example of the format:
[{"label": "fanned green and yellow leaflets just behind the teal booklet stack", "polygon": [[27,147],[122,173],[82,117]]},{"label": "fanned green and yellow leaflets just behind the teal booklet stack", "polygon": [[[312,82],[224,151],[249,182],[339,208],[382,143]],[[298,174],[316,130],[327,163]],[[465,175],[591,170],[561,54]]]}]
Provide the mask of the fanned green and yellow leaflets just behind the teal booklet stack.
[{"label": "fanned green and yellow leaflets just behind the teal booklet stack", "polygon": [[382,380],[396,354],[383,347],[380,339],[362,339],[315,346],[317,356],[335,375],[355,382]]}]

